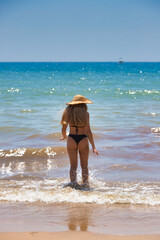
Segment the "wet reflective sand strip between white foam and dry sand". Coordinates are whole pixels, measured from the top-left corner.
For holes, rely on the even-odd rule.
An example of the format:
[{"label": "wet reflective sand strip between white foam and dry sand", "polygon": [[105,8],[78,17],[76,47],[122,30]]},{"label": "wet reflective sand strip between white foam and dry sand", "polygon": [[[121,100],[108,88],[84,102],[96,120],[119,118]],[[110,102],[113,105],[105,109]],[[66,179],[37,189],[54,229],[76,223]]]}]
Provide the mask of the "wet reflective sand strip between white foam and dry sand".
[{"label": "wet reflective sand strip between white foam and dry sand", "polygon": [[98,204],[1,203],[2,232],[92,232],[159,235],[159,207]]}]

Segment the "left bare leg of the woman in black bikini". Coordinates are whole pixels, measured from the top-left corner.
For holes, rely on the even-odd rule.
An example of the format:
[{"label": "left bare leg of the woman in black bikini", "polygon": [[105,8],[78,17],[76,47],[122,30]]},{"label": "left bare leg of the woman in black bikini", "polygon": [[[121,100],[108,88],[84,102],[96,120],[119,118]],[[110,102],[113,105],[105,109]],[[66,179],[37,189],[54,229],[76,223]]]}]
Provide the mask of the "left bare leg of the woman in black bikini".
[{"label": "left bare leg of the woman in black bikini", "polygon": [[71,137],[67,139],[67,151],[70,159],[70,180],[77,181],[77,166],[78,166],[78,147],[77,143]]}]

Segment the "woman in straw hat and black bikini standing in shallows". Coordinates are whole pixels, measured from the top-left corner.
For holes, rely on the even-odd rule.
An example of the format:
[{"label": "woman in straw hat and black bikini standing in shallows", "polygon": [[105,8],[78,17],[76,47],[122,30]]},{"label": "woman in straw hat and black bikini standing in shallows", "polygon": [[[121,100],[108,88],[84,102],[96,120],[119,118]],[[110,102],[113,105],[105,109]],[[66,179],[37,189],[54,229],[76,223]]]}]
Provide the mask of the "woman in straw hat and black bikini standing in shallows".
[{"label": "woman in straw hat and black bikini standing in shallows", "polygon": [[82,168],[82,182],[84,187],[89,187],[88,183],[88,155],[89,145],[88,139],[92,145],[93,153],[98,155],[95,148],[93,135],[90,129],[89,113],[87,112],[87,103],[92,103],[89,99],[82,95],[76,95],[73,100],[66,103],[68,107],[62,115],[62,138],[67,138],[66,129],[69,125],[70,132],[67,138],[67,151],[70,159],[70,186],[77,185],[77,166],[78,152],[80,155],[80,163]]}]

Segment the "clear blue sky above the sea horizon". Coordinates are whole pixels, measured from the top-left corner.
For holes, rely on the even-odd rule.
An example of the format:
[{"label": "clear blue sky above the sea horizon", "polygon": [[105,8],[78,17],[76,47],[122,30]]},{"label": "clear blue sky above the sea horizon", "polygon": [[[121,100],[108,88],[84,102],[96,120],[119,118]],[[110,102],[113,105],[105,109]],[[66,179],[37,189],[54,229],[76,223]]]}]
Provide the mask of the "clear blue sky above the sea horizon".
[{"label": "clear blue sky above the sea horizon", "polygon": [[160,61],[160,0],[0,0],[0,61]]}]

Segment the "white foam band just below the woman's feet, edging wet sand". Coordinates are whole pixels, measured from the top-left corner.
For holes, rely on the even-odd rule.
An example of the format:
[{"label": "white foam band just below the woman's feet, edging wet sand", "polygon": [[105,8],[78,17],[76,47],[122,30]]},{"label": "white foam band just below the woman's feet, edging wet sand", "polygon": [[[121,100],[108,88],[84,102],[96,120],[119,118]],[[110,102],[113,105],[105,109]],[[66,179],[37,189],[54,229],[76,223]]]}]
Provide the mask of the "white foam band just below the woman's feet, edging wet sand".
[{"label": "white foam band just below the woman's feet, edging wet sand", "polygon": [[74,189],[54,189],[37,186],[34,189],[21,188],[14,191],[4,191],[0,194],[0,200],[19,202],[68,202],[68,203],[97,203],[97,204],[147,204],[160,205],[160,194],[152,193],[146,189],[140,193],[134,192],[134,188],[121,189],[110,188],[103,191],[77,191]]}]

